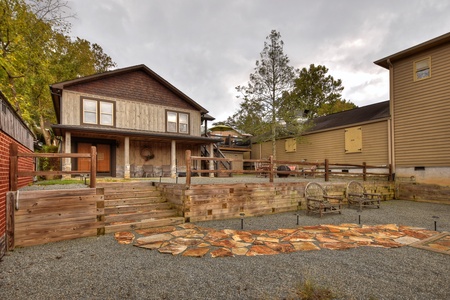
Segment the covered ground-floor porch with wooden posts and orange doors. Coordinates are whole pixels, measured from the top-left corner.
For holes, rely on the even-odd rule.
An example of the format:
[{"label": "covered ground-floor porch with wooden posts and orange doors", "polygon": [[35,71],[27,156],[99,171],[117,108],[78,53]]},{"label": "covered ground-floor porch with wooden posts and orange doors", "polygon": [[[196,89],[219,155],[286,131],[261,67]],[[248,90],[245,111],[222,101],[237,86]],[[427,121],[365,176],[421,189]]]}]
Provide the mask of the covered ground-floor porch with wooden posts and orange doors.
[{"label": "covered ground-floor porch with wooden posts and orange doors", "polygon": [[[186,150],[201,156],[202,147],[206,147],[207,153],[214,155],[214,143],[220,141],[204,136],[70,125],[54,125],[53,130],[61,137],[62,153],[89,153],[91,146],[97,148],[99,177],[174,178],[186,168]],[[214,168],[213,165],[194,167]],[[62,161],[63,171],[89,169],[87,159],[64,158]]]}]

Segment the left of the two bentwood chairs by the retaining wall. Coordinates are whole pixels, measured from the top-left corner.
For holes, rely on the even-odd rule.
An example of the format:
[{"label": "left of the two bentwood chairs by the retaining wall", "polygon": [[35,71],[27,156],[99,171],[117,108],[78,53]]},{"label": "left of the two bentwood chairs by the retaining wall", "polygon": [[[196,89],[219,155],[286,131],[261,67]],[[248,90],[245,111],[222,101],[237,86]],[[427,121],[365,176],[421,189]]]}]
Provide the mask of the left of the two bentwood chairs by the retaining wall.
[{"label": "left of the two bentwood chairs by the retaining wall", "polygon": [[320,217],[326,213],[341,213],[342,196],[331,196],[317,182],[309,182],[305,188],[306,213],[318,213]]}]

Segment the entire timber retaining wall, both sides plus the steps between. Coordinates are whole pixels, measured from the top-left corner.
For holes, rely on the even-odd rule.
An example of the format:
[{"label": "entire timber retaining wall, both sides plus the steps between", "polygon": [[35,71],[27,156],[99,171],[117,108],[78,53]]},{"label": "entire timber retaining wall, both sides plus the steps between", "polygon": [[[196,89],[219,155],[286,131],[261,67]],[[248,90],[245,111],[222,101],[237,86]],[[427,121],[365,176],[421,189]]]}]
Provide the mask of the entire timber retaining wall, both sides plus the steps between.
[{"label": "entire timber retaining wall, both sides plus the steps between", "polygon": [[[8,193],[14,213],[12,246],[96,236],[183,222],[260,216],[305,209],[307,182],[240,184],[101,183],[98,188]],[[344,195],[345,182],[322,183]],[[364,182],[370,192],[394,198],[394,183]]]}]

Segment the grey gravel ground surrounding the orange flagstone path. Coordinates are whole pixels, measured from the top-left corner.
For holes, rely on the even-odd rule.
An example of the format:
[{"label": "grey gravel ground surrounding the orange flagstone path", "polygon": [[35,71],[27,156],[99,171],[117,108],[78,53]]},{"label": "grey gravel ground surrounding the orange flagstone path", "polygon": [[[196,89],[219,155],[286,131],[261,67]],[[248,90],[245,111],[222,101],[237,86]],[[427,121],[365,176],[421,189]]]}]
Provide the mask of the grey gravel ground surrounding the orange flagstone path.
[{"label": "grey gravel ground surrounding the orange flagstone path", "polygon": [[[299,225],[357,223],[358,213],[300,215]],[[362,224],[450,232],[450,206],[409,201],[366,209]],[[434,219],[433,216],[439,216]],[[197,223],[240,229],[240,220]],[[246,218],[245,229],[296,227],[294,213]],[[0,262],[1,299],[294,299],[309,279],[340,299],[450,299],[450,255],[409,246],[360,247],[273,256],[192,258],[118,244],[113,235],[8,253]]]}]

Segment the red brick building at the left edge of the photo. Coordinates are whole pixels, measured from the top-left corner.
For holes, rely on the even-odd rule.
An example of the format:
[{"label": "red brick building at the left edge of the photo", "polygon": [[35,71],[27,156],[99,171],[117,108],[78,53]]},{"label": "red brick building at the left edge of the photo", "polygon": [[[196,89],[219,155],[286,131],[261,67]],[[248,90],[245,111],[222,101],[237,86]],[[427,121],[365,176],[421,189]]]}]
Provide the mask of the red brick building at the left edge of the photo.
[{"label": "red brick building at the left edge of the photo", "polygon": [[[10,190],[9,157],[10,145],[16,144],[21,153],[30,153],[34,150],[35,136],[25,122],[9,104],[6,97],[0,92],[0,258],[6,252],[6,192]],[[34,163],[31,158],[19,159],[19,169],[33,171]],[[32,182],[31,177],[18,179],[18,187]]]}]

